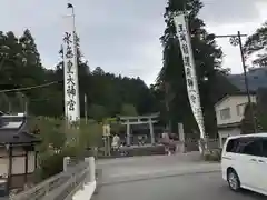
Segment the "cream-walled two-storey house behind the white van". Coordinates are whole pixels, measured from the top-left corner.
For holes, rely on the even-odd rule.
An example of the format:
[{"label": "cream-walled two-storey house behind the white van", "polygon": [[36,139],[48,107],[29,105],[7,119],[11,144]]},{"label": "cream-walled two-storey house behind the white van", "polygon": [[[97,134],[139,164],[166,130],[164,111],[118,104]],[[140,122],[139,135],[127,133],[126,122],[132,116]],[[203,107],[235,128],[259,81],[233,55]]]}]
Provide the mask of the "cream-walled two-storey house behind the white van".
[{"label": "cream-walled two-storey house behind the white van", "polygon": [[[251,102],[257,101],[255,94],[250,94],[250,98]],[[240,123],[247,103],[247,94],[239,93],[226,96],[215,104],[220,147],[229,136],[240,134]]]}]

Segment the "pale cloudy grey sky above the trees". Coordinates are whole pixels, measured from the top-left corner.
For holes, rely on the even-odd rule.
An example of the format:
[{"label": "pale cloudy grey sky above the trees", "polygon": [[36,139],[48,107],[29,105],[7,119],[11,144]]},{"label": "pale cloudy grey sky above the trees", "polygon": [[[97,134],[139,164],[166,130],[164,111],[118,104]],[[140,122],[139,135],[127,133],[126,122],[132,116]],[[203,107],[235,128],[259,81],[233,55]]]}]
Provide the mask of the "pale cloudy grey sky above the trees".
[{"label": "pale cloudy grey sky above the trees", "polygon": [[[1,31],[22,34],[30,29],[42,63],[53,68],[60,60],[66,9],[70,0],[1,0]],[[76,27],[85,59],[91,69],[155,81],[162,66],[159,41],[165,30],[167,0],[72,0]],[[238,30],[250,34],[267,21],[266,0],[202,0],[199,17],[215,34]],[[224,51],[225,68],[241,72],[239,49],[228,39],[217,39]],[[244,39],[245,41],[245,39]],[[249,64],[249,63],[248,63]]]}]

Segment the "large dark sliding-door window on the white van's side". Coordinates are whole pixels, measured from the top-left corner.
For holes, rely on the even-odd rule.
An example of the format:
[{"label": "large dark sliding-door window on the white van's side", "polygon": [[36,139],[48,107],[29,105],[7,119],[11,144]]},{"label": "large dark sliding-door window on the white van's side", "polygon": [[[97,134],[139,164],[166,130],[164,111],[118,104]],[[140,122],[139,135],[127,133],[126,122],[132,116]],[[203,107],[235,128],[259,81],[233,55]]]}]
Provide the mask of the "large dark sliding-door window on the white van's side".
[{"label": "large dark sliding-door window on the white van's side", "polygon": [[261,141],[259,138],[241,138],[237,151],[241,154],[260,157]]}]

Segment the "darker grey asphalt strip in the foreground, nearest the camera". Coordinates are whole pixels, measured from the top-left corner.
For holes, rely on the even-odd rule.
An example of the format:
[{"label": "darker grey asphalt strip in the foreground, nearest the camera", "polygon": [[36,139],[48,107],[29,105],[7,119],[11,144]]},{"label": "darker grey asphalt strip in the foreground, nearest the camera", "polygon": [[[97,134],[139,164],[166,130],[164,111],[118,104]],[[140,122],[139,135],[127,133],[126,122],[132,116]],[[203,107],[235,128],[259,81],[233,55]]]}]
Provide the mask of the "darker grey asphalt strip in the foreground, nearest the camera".
[{"label": "darker grey asphalt strip in the foreground, nearest the camera", "polygon": [[219,172],[179,174],[102,186],[93,200],[266,200],[241,191],[235,193]]}]

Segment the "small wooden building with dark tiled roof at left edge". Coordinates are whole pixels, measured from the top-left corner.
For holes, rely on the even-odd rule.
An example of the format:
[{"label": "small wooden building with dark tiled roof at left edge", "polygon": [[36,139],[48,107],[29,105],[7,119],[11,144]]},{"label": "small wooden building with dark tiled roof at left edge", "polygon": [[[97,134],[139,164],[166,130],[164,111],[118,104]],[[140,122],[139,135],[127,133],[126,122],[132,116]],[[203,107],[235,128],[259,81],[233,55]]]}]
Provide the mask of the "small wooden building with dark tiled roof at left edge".
[{"label": "small wooden building with dark tiled roof at left edge", "polygon": [[37,168],[36,144],[40,142],[28,132],[27,117],[0,116],[0,182],[1,192],[22,189],[33,181]]}]

